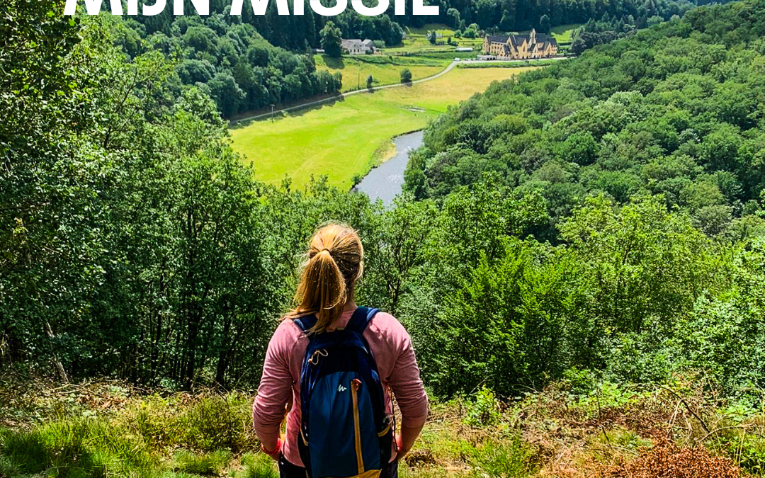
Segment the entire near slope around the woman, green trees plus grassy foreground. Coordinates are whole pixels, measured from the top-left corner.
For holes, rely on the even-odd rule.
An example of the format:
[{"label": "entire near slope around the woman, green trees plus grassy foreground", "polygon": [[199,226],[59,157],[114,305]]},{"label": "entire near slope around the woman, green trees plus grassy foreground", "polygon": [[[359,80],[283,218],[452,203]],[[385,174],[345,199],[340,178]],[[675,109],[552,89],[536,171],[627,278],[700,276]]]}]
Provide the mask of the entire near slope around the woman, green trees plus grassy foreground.
[{"label": "entire near slope around the woman, green trees plus grassy foreground", "polygon": [[765,1],[493,84],[388,210],[256,182],[174,63],[61,11],[0,18],[0,476],[273,476],[249,405],[329,220],[433,398],[402,474],[762,475]]}]

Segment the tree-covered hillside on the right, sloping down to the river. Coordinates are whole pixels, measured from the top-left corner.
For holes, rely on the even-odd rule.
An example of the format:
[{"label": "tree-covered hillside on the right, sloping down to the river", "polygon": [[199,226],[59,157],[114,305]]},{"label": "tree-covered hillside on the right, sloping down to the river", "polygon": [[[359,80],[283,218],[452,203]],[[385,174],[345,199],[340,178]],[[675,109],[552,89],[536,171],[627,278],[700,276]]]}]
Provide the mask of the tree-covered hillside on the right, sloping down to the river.
[{"label": "tree-covered hillside on the right, sloping down to the river", "polygon": [[711,236],[757,223],[765,189],[763,5],[704,7],[578,60],[519,76],[428,128],[415,197],[483,174],[539,191],[556,223],[584,197],[662,195]]}]

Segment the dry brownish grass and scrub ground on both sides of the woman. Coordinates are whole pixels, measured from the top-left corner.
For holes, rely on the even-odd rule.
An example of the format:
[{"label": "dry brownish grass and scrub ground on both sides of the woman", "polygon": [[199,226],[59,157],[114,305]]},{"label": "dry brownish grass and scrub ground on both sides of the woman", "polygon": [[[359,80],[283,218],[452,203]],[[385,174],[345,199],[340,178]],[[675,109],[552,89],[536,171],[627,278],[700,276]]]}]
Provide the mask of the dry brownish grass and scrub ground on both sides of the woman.
[{"label": "dry brownish grass and scrub ground on both sides of the woman", "polygon": [[[23,456],[24,437],[69,443],[59,432],[80,428],[77,447],[67,446],[114,457],[103,460],[107,468],[134,449],[142,454],[135,476],[275,476],[273,464],[253,453],[251,400],[249,392],[163,392],[111,381],[0,383],[0,476],[12,459],[3,451],[11,442],[15,456]],[[473,399],[434,404],[401,464],[402,478],[736,478],[757,476],[758,457],[765,455],[763,415],[731,418],[731,404],[696,379],[648,388],[601,385],[579,395],[551,385],[491,403],[496,414],[477,426],[467,424],[479,406]],[[55,464],[61,463],[81,464]]]}]

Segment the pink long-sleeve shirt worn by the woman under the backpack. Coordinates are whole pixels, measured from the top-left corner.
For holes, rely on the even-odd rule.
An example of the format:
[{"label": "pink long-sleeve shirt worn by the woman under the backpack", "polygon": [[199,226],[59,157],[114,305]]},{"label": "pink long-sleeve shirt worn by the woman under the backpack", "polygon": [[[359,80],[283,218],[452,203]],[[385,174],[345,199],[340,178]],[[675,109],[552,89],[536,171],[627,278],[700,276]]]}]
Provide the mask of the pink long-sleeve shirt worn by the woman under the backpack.
[{"label": "pink long-sleeve shirt worn by the woman under the backpack", "polygon": [[[353,311],[344,312],[334,327],[345,327]],[[402,425],[418,428],[428,416],[428,395],[420,379],[420,370],[412,349],[409,333],[391,314],[378,312],[364,330],[364,338],[377,363],[385,391],[386,411],[392,414],[389,388],[396,395],[401,410]],[[285,407],[291,402],[287,416],[287,434],[282,453],[290,463],[300,467],[298,453],[300,430],[300,369],[308,338],[292,320],[284,320],[276,329],[265,353],[263,375],[258,395],[252,404],[252,425],[261,441],[275,441],[285,417]]]}]

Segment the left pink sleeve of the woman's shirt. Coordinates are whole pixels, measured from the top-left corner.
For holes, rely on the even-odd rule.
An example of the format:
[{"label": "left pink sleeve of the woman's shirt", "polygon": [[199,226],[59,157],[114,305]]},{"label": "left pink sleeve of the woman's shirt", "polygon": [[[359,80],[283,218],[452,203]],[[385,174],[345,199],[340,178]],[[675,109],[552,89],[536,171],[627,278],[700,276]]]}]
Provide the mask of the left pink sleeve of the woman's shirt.
[{"label": "left pink sleeve of the woman's shirt", "polygon": [[292,375],[289,369],[287,327],[282,322],[276,329],[265,352],[263,375],[258,395],[252,404],[252,428],[258,438],[277,438],[279,427],[285,418],[285,407],[291,398]]}]

